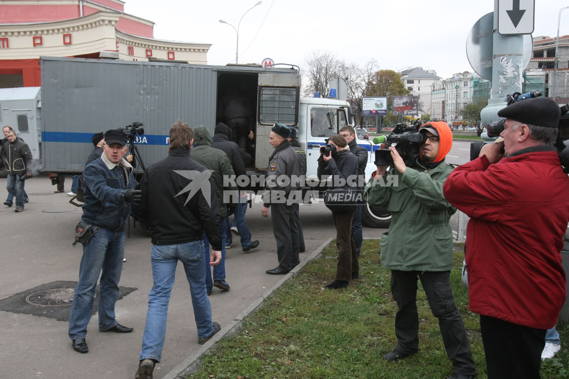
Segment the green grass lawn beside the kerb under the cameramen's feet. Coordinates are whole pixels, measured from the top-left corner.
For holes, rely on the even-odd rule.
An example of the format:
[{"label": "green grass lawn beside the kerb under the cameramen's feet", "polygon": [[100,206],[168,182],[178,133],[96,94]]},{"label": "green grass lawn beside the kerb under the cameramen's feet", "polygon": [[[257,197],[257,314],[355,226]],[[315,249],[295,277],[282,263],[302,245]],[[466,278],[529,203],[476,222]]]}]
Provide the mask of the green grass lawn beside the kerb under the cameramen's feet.
[{"label": "green grass lawn beside the kerb under the cameramen's feet", "polygon": [[[333,241],[335,243],[335,241]],[[419,353],[388,363],[383,356],[397,343],[397,305],[382,268],[379,240],[364,240],[360,279],[347,289],[324,290],[336,273],[336,259],[316,259],[287,281],[265,305],[244,321],[240,332],[222,339],[187,378],[350,379],[447,378],[452,364],[444,351],[438,321],[432,316],[419,281]],[[335,244],[322,252],[336,256]],[[479,317],[468,310],[460,283],[463,253],[455,252],[451,282],[478,366],[486,378]],[[569,327],[559,329],[562,351],[542,364],[543,379],[569,376]]]}]

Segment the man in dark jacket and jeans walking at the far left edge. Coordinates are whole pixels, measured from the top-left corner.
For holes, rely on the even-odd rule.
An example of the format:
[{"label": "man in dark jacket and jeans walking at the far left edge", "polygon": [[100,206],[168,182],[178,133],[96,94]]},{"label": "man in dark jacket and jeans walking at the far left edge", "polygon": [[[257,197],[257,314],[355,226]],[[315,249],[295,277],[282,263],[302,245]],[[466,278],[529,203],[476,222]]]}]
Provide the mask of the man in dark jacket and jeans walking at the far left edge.
[{"label": "man in dark jacket and jeans walking at the far left edge", "polygon": [[6,189],[16,198],[14,212],[19,213],[24,210],[26,201],[25,180],[32,176],[32,153],[30,147],[19,139],[13,130],[7,133],[6,138],[9,141],[4,145],[6,148],[4,165],[8,170]]}]

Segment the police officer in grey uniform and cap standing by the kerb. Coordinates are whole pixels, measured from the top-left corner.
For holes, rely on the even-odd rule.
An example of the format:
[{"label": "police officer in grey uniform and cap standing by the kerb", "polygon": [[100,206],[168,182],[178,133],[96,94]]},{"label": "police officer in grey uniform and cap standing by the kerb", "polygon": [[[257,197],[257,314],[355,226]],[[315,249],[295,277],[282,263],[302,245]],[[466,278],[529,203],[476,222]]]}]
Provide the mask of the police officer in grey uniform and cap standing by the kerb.
[{"label": "police officer in grey uniform and cap standing by the kerb", "polygon": [[266,271],[270,275],[287,274],[300,263],[298,257],[300,244],[295,220],[295,209],[298,214],[298,200],[292,203],[292,197],[298,195],[300,185],[298,180],[290,180],[300,177],[300,158],[288,141],[289,136],[290,129],[284,124],[276,123],[271,128],[269,143],[275,151],[267,167],[261,209],[263,217],[269,217],[269,207],[273,209],[271,220],[277,240],[279,265]]}]

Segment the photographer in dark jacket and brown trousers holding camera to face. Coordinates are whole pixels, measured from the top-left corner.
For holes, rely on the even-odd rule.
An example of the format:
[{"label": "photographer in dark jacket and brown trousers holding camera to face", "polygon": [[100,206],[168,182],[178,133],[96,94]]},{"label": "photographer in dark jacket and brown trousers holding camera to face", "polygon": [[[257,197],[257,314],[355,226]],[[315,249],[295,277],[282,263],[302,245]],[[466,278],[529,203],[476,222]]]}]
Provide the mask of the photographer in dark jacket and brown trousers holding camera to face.
[{"label": "photographer in dark jacket and brown trousers holding camera to face", "polygon": [[[357,189],[357,158],[350,151],[346,139],[335,134],[328,139],[328,144],[320,148],[318,158],[318,177],[332,175],[333,188]],[[326,194],[325,194],[326,196]],[[326,203],[326,199],[324,199]],[[349,281],[360,276],[356,243],[352,238],[352,216],[356,211],[357,199],[347,206],[331,206],[332,218],[336,226],[336,246],[338,248],[338,265],[336,279],[325,286],[339,289],[348,286]]]}]

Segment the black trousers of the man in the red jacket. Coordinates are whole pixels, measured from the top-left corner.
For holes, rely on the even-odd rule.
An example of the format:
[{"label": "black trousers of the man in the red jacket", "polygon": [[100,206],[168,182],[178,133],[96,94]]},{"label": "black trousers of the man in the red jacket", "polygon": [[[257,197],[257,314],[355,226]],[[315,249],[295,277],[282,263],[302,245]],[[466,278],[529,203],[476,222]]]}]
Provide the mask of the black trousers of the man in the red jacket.
[{"label": "black trousers of the man in the red jacket", "polygon": [[480,316],[488,379],[539,379],[546,330]]}]

